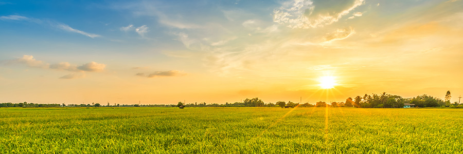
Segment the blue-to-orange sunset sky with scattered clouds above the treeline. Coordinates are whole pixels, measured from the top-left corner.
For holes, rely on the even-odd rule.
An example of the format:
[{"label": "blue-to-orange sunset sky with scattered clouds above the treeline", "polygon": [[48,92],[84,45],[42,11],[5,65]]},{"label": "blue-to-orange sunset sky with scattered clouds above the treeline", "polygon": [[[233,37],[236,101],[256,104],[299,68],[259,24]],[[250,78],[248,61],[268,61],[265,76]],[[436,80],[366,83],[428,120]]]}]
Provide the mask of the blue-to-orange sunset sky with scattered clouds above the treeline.
[{"label": "blue-to-orange sunset sky with scattered clouds above the treeline", "polygon": [[462,66],[461,0],[0,0],[0,102],[456,102]]}]

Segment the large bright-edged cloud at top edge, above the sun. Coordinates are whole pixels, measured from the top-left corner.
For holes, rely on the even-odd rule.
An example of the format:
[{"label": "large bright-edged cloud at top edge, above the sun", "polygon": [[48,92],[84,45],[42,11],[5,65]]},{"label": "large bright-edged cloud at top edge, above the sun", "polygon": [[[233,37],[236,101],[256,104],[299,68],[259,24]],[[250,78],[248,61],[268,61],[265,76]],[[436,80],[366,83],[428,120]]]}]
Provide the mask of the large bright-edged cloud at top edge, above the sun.
[{"label": "large bright-edged cloud at top edge, above the sun", "polygon": [[364,0],[350,0],[340,4],[332,1],[292,0],[273,11],[273,21],[290,28],[315,28],[330,25],[364,4]]}]

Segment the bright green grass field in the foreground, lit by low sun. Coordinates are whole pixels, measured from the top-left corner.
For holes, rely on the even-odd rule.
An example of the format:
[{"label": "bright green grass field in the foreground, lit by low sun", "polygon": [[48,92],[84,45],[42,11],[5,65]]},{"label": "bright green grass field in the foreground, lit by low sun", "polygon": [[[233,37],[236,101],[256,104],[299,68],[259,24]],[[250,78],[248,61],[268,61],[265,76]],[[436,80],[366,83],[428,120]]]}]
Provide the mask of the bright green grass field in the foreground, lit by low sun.
[{"label": "bright green grass field in the foreground, lit by low sun", "polygon": [[0,153],[463,153],[463,109],[0,108]]}]

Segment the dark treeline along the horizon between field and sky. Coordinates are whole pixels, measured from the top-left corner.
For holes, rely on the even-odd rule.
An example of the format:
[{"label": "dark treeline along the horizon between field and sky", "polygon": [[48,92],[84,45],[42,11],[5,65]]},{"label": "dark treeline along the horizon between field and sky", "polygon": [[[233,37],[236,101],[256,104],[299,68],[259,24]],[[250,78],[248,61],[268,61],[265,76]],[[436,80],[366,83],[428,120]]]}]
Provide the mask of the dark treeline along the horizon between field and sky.
[{"label": "dark treeline along the horizon between field and sky", "polygon": [[225,104],[206,104],[202,103],[182,103],[178,104],[154,104],[154,105],[140,105],[140,104],[114,104],[100,105],[99,103],[91,104],[34,104],[34,103],[0,103],[0,107],[281,107],[281,108],[294,108],[294,107],[356,107],[356,108],[402,108],[404,103],[415,104],[416,107],[450,107],[450,108],[463,108],[463,104],[459,102],[450,103],[450,91],[447,91],[445,100],[432,97],[430,95],[418,95],[414,98],[402,98],[399,95],[391,95],[383,92],[381,94],[365,94],[363,97],[357,96],[354,99],[347,98],[345,102],[330,102],[323,101],[311,104],[306,102],[304,104],[294,103],[288,101],[278,101],[276,103],[264,103],[259,98],[245,99],[244,102],[225,103]]}]

